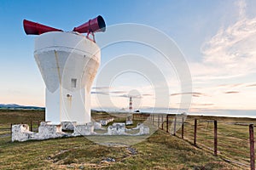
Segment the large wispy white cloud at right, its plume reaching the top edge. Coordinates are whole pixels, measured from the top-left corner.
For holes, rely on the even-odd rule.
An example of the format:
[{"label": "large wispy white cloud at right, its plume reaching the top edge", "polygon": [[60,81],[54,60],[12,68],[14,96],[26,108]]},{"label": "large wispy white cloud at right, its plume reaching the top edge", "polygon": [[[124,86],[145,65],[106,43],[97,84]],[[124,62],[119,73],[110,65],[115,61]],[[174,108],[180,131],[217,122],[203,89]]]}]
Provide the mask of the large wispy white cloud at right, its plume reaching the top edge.
[{"label": "large wispy white cloud at right, its plume reaching the top edge", "polygon": [[256,72],[256,17],[247,18],[244,1],[236,3],[239,18],[201,45],[201,62],[191,63],[193,80],[205,83],[247,77]]}]

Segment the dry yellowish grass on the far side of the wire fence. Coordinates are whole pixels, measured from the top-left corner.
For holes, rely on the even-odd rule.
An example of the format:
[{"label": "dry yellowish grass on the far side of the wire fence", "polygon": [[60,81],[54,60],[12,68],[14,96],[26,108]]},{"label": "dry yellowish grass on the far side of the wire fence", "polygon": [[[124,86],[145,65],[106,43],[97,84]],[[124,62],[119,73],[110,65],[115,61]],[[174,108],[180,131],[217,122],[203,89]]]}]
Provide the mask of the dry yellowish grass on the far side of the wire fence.
[{"label": "dry yellowish grass on the far side of the wire fence", "polygon": [[[224,119],[223,119],[224,120]],[[184,136],[192,143],[194,139],[194,118],[189,117],[184,125]],[[236,122],[252,122],[254,119],[226,119],[218,118],[218,155],[224,159],[235,161],[244,168],[250,165],[249,130],[248,126],[237,125]],[[177,132],[180,135],[181,130]],[[254,133],[255,135],[256,133]],[[213,152],[213,122],[200,120],[197,123],[197,145]]]}]

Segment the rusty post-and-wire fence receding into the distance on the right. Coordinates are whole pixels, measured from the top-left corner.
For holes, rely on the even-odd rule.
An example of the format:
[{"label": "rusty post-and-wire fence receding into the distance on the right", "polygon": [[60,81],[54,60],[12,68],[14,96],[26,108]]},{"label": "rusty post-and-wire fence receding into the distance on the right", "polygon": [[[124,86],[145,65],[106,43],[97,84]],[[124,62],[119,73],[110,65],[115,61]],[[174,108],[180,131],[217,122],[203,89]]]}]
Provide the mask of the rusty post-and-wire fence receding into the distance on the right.
[{"label": "rusty post-and-wire fence receding into the distance on the right", "polygon": [[255,169],[254,132],[255,120],[223,121],[202,116],[134,114],[134,120],[151,122],[166,133],[183,139],[195,147],[219,156],[224,161],[243,169]]}]

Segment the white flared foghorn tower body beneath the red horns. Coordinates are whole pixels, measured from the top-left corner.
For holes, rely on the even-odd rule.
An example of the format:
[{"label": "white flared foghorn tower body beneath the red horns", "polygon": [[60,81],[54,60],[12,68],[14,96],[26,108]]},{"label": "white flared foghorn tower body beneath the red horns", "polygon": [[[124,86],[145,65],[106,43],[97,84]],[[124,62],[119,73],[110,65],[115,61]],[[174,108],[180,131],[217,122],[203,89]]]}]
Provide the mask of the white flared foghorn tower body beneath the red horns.
[{"label": "white flared foghorn tower body beneath the red horns", "polygon": [[[97,22],[98,17],[94,19]],[[85,23],[89,27],[86,29],[93,33],[94,23],[90,21]],[[94,40],[79,31],[77,27],[69,32],[39,32],[35,38],[34,57],[46,85],[45,121],[53,124],[90,122],[90,88],[101,51]]]}]

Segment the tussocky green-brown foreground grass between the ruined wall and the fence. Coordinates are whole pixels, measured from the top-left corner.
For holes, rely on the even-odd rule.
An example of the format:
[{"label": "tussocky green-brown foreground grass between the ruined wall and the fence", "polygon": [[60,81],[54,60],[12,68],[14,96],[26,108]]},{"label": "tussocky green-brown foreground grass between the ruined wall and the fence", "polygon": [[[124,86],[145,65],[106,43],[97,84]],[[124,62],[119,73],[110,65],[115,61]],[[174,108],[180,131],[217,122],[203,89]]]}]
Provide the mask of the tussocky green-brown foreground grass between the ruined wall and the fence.
[{"label": "tussocky green-brown foreground grass between the ruined wall and the fence", "polygon": [[[142,143],[108,147],[84,137],[10,143],[0,139],[1,169],[206,169],[233,168],[218,157],[158,131]],[[40,147],[38,147],[40,146]],[[130,150],[136,150],[131,153]],[[114,161],[105,161],[111,159]]]}]

